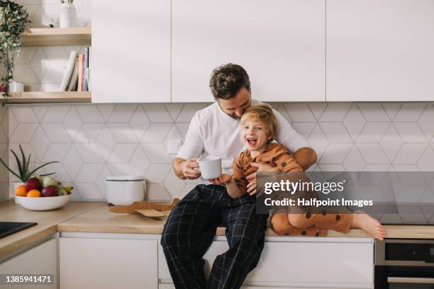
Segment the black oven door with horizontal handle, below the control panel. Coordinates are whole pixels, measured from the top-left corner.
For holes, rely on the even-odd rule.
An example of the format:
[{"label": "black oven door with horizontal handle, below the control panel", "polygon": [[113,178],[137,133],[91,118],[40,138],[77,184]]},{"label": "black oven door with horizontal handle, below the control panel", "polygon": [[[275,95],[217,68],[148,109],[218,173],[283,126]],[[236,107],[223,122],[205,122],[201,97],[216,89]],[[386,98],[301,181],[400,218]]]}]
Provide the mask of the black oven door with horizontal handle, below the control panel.
[{"label": "black oven door with horizontal handle, below the control panel", "polygon": [[375,266],[374,289],[434,289],[434,267]]}]

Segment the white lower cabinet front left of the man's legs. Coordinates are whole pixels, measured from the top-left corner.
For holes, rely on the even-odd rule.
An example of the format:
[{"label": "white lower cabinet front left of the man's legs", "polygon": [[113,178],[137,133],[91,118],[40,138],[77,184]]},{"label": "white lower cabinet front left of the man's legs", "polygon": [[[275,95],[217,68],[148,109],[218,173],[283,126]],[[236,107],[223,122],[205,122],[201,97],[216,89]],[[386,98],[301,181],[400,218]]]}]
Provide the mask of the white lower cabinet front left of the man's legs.
[{"label": "white lower cabinet front left of the man's legs", "polygon": [[156,289],[157,240],[60,238],[60,289]]}]

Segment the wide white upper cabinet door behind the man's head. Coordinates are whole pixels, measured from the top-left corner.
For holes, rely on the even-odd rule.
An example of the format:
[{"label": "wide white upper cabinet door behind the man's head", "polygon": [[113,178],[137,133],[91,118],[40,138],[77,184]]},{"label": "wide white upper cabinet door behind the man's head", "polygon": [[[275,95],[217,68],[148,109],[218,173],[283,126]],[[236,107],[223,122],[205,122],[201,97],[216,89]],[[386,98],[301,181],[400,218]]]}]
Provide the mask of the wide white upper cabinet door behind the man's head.
[{"label": "wide white upper cabinet door behind the man's head", "polygon": [[325,101],[325,0],[173,0],[172,101],[213,101],[229,62],[260,101]]}]

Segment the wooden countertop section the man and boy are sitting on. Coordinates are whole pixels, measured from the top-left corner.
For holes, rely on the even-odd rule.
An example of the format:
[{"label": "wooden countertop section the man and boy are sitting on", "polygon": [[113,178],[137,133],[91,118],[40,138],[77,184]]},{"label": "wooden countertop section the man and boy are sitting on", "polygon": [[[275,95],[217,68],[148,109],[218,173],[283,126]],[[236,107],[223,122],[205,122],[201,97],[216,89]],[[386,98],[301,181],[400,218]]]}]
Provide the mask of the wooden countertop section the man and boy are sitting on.
[{"label": "wooden countertop section the man and boy are sitting on", "polygon": [[[118,214],[109,212],[108,208],[108,205],[101,205],[61,222],[57,229],[59,232],[161,234],[167,219],[165,217],[162,220],[152,220],[140,214]],[[385,227],[387,238],[434,239],[434,225],[386,225]],[[272,229],[267,229],[265,234],[277,236]],[[224,236],[225,227],[218,227],[217,235]],[[361,229],[351,229],[347,234],[329,230],[328,237],[369,238],[370,236]]]}]

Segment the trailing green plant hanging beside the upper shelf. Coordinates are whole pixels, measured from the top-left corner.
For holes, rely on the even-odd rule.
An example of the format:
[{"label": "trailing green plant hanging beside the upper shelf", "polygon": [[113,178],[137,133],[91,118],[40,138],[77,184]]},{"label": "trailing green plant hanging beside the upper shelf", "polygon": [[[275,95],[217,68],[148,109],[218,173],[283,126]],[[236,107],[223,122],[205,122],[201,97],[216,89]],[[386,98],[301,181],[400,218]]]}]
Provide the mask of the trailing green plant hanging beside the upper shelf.
[{"label": "trailing green plant hanging beside the upper shelf", "polygon": [[9,82],[13,79],[13,61],[28,23],[28,13],[23,6],[10,0],[0,0],[0,62],[6,69],[6,74],[1,77],[1,84],[5,100]]}]

